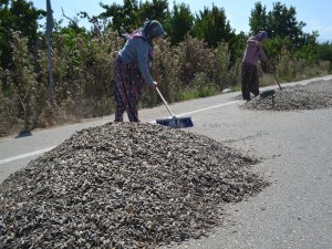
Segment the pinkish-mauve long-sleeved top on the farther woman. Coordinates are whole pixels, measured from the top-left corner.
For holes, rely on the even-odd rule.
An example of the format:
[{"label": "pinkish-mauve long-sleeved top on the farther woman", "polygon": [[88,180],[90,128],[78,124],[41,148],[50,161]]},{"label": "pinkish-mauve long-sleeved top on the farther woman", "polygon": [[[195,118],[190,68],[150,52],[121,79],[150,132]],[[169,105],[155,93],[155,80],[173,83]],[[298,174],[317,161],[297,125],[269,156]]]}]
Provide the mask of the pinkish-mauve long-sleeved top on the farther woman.
[{"label": "pinkish-mauve long-sleeved top on the farther woman", "polygon": [[262,44],[255,37],[249,38],[242,62],[257,65],[260,60],[267,60]]}]

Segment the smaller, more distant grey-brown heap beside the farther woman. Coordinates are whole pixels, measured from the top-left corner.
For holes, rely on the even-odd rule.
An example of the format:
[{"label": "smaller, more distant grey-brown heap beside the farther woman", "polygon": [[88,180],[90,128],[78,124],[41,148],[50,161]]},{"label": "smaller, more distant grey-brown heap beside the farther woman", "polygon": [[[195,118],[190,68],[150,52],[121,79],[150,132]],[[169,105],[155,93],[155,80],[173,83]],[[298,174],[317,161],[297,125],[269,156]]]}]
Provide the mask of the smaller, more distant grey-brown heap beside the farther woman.
[{"label": "smaller, more distant grey-brown heap beside the farther woman", "polygon": [[272,96],[258,96],[242,105],[249,110],[295,111],[332,107],[332,81],[276,90]]}]

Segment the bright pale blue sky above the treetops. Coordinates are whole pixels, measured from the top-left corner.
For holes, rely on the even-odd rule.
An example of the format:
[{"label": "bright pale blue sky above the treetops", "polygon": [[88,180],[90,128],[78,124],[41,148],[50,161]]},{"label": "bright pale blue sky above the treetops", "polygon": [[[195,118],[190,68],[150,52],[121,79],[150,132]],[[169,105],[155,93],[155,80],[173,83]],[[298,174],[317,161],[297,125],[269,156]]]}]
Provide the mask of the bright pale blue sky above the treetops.
[{"label": "bright pale blue sky above the treetops", "polygon": [[[33,6],[38,9],[46,9],[46,0],[29,0],[33,2]],[[145,0],[144,0],[145,1]],[[227,20],[230,22],[230,27],[236,30],[237,33],[240,31],[249,31],[249,17],[251,10],[255,8],[255,3],[259,0],[175,0],[176,3],[184,2],[189,6],[193,13],[203,10],[204,7],[211,8],[212,3],[218,8],[224,8]],[[123,4],[123,0],[51,0],[53,9],[53,18],[58,21],[63,19],[64,25],[66,25],[66,19],[62,15],[63,9],[65,15],[73,18],[80,11],[85,11],[90,15],[96,15],[103,12],[98,2],[105,4],[112,4],[113,2]],[[168,0],[169,8],[173,7],[174,0]],[[262,6],[267,7],[267,11],[272,10],[273,2],[281,2],[288,8],[291,6],[297,10],[297,20],[307,23],[303,29],[304,32],[311,33],[318,31],[320,41],[332,42],[332,1],[329,0],[280,0],[280,1],[268,1],[260,0]],[[90,29],[89,22],[80,21],[80,24],[85,25]]]}]

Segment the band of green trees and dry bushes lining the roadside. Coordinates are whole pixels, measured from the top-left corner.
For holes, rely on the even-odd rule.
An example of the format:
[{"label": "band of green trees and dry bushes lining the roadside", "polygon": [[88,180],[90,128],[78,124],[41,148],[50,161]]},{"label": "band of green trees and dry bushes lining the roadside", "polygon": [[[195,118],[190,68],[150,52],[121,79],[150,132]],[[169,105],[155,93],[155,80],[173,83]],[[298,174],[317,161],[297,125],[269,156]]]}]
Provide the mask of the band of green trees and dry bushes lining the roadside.
[{"label": "band of green trees and dry bushes lining the roadside", "polygon": [[[110,1],[112,2],[112,1]],[[102,4],[102,3],[101,3]],[[85,12],[54,20],[50,96],[45,10],[24,0],[0,3],[0,136],[37,127],[110,115],[113,107],[113,62],[123,46],[124,32],[143,21],[157,19],[167,32],[156,48],[153,74],[169,102],[219,94],[239,89],[240,61],[250,34],[266,30],[264,45],[273,72],[261,66],[261,85],[295,81],[331,73],[332,44],[319,43],[319,33],[303,32],[293,7],[277,2],[272,10],[257,2],[251,10],[250,34],[236,33],[222,7],[212,6],[193,13],[189,6],[167,0],[124,0],[102,4],[96,17]],[[64,13],[65,14],[65,13]],[[80,25],[87,19],[91,29]],[[146,89],[141,107],[160,103]]]}]

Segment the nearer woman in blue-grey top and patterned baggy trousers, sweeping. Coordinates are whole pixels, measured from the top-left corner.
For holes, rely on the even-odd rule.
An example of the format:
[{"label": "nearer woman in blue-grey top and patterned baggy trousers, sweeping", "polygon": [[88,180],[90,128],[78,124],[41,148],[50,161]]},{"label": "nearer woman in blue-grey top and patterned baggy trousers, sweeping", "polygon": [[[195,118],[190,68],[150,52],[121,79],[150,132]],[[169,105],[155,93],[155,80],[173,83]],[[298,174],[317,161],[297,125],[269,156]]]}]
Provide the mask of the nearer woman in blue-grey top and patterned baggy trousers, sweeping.
[{"label": "nearer woman in blue-grey top and patterned baggy trousers, sweeping", "polygon": [[129,122],[139,122],[138,102],[144,85],[156,87],[151,74],[154,60],[154,44],[164,35],[162,24],[147,20],[143,27],[131,34],[124,48],[118,52],[114,64],[115,120],[123,122],[124,112]]}]

